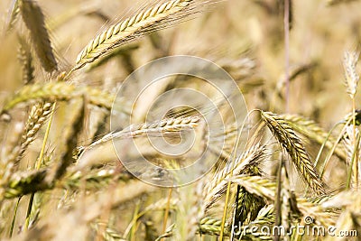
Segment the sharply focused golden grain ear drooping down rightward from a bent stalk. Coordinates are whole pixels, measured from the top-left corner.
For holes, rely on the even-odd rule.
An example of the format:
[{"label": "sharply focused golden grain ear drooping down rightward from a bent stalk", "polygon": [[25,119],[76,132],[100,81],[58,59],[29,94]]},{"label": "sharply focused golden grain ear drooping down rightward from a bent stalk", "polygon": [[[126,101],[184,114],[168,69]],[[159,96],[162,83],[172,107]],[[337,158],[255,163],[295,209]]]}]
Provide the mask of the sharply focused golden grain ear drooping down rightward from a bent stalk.
[{"label": "sharply focused golden grain ear drooping down rightward from a bent stalk", "polygon": [[318,194],[324,194],[324,183],[310,161],[310,156],[306,152],[300,138],[294,133],[291,126],[280,116],[271,112],[261,112],[262,119],[268,128],[272,131],[277,141],[290,154],[292,162],[296,166],[301,177],[307,181],[310,188]]}]

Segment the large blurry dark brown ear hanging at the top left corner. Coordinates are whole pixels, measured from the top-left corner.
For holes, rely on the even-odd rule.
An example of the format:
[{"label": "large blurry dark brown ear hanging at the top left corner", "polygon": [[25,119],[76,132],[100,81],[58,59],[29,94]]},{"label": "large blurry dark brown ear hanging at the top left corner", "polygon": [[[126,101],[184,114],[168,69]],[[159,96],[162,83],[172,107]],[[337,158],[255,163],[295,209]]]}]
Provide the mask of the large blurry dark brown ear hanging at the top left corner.
[{"label": "large blurry dark brown ear hanging at the top left corner", "polygon": [[32,0],[19,2],[23,23],[30,31],[35,52],[47,72],[58,70],[58,63],[52,51],[49,32],[45,27],[44,14],[40,6]]}]

